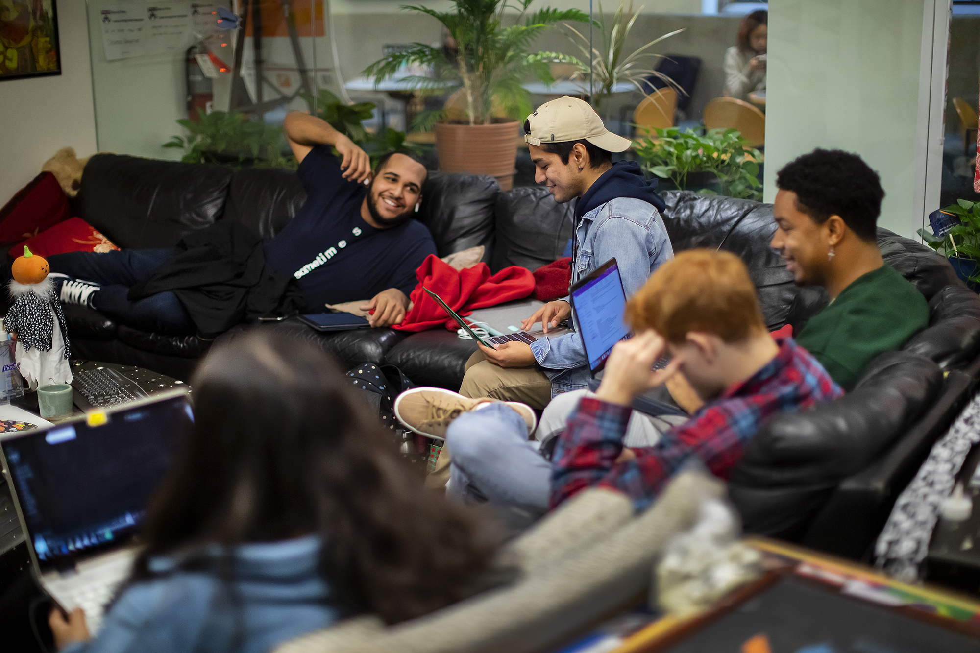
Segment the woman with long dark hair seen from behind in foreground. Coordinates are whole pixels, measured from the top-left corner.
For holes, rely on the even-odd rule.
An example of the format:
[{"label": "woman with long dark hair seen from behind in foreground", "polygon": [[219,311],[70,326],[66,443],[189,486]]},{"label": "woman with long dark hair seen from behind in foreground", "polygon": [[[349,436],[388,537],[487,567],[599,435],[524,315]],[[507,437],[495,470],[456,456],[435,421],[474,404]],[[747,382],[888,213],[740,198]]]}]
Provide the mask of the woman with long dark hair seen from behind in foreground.
[{"label": "woman with long dark hair seen from behind in foreground", "polygon": [[258,653],[356,613],[389,624],[480,588],[496,540],[422,487],[318,347],[251,333],[194,379],[195,423],[148,509],[132,576],[59,648]]}]

